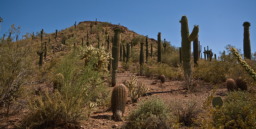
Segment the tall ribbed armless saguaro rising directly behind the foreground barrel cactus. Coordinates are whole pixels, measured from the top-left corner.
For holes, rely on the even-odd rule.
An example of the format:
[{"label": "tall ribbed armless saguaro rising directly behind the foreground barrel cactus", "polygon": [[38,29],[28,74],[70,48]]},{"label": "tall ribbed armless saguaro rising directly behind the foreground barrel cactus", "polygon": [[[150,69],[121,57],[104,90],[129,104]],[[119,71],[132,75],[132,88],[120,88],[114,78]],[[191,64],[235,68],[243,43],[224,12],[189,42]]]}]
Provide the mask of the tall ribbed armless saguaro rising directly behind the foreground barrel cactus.
[{"label": "tall ribbed armless saguaro rising directly behind the foreground barrel cactus", "polygon": [[114,30],[113,44],[112,44],[112,82],[111,85],[114,87],[117,84],[117,68],[119,60],[119,48],[121,42],[121,29],[117,28]]}]

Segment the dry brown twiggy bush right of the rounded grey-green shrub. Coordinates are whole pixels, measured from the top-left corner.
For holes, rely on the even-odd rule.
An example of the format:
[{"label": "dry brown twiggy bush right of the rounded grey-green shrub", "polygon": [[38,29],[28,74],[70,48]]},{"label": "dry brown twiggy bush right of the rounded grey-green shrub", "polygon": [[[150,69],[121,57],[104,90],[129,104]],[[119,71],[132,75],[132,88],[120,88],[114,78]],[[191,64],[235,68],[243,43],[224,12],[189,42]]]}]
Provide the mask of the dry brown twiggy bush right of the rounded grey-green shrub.
[{"label": "dry brown twiggy bush right of the rounded grey-green shrub", "polygon": [[182,101],[177,101],[173,104],[174,113],[179,117],[179,122],[183,125],[192,125],[195,119],[199,117],[202,112],[198,101],[192,99],[192,101],[186,101],[185,106]]}]

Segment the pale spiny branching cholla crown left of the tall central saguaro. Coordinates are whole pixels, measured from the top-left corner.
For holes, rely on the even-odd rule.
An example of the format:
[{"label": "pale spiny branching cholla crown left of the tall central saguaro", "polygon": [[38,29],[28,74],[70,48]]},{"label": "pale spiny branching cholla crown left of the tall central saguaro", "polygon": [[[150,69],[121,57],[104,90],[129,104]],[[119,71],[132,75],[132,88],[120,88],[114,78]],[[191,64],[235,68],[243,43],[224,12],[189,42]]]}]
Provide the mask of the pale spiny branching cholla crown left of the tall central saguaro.
[{"label": "pale spiny branching cholla crown left of the tall central saguaro", "polygon": [[94,48],[92,45],[83,50],[82,57],[80,58],[85,59],[85,65],[93,58],[97,59],[97,63],[95,65],[95,70],[108,70],[109,59],[111,57],[111,53],[106,53],[104,47],[101,48]]}]

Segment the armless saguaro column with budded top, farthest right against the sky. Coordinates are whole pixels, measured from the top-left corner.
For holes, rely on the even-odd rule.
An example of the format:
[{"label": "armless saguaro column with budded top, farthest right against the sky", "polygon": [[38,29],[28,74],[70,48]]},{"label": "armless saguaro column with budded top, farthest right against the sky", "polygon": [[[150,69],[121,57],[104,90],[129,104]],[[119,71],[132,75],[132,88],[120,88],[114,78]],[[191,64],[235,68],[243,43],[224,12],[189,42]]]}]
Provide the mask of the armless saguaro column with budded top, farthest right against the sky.
[{"label": "armless saguaro column with budded top, farthest right against the sky", "polygon": [[246,58],[251,60],[251,43],[250,43],[250,32],[249,27],[251,26],[250,22],[244,22],[244,55]]}]

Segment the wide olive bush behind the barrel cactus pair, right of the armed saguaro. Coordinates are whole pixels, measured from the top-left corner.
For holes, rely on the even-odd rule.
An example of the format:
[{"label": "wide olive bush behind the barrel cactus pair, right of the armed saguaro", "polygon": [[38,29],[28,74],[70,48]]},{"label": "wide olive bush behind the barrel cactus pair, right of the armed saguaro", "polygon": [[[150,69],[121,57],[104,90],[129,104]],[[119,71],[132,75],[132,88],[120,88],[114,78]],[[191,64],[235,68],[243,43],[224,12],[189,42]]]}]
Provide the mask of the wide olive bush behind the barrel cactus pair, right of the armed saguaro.
[{"label": "wide olive bush behind the barrel cactus pair, right of the armed saguaro", "polygon": [[[231,45],[227,45],[225,48],[229,50]],[[239,50],[240,51],[240,50]],[[223,51],[218,57],[218,60],[198,60],[198,67],[194,67],[194,77],[199,79],[201,78],[205,82],[211,82],[214,84],[222,83],[228,78],[236,79],[237,77],[247,78],[249,75],[243,70],[236,60],[236,57],[233,54],[226,54]],[[253,63],[250,61],[250,63]],[[254,64],[255,65],[255,64]],[[251,66],[254,66],[251,65]]]}]

